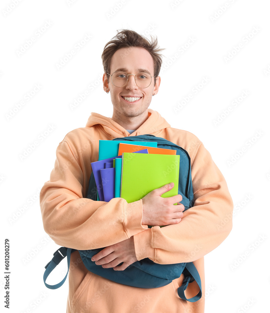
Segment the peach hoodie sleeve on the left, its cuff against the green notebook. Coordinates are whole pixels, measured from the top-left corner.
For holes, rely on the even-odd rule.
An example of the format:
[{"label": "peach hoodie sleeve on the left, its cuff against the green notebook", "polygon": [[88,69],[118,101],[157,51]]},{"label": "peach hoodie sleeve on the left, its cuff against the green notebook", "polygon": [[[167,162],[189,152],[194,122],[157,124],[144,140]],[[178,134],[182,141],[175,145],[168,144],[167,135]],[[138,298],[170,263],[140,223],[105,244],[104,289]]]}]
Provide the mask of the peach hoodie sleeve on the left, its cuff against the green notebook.
[{"label": "peach hoodie sleeve on the left, its cuff against the green notebook", "polygon": [[68,141],[60,142],[56,157],[50,180],[40,192],[44,230],[56,244],[78,250],[102,248],[147,228],[141,224],[142,200],[83,198],[85,156],[77,157]]}]

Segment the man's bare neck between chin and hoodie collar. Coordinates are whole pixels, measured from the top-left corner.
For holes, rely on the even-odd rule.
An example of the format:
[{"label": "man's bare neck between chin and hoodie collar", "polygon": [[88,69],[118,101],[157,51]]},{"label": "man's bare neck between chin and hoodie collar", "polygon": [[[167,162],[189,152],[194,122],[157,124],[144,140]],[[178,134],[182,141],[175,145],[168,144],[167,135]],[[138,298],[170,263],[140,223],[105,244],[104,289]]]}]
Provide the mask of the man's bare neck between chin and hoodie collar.
[{"label": "man's bare neck between chin and hoodie collar", "polygon": [[113,111],[112,120],[124,129],[136,130],[148,119],[148,110],[137,116],[125,116]]}]

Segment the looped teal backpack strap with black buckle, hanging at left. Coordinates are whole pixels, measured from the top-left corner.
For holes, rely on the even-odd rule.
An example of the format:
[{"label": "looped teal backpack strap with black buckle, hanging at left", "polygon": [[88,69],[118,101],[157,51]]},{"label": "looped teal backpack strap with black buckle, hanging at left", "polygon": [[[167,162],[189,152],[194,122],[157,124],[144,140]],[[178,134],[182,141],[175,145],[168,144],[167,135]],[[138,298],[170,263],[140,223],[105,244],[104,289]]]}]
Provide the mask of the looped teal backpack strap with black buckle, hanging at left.
[{"label": "looped teal backpack strap with black buckle, hanging at left", "polygon": [[76,251],[76,249],[71,249],[71,248],[66,248],[66,247],[61,247],[60,249],[56,250],[53,254],[53,259],[51,259],[51,261],[45,266],[45,272],[43,275],[43,281],[44,284],[47,288],[49,289],[57,289],[59,287],[61,287],[63,285],[63,283],[65,282],[65,280],[68,277],[68,272],[66,274],[66,276],[64,277],[64,279],[62,281],[60,281],[60,283],[56,284],[56,285],[48,285],[46,283],[46,279],[47,277],[51,274],[51,272],[53,271],[53,269],[55,269],[55,267],[65,258],[67,257],[67,261],[68,261],[68,271],[69,271],[69,264],[70,264],[70,254],[72,252]]}]

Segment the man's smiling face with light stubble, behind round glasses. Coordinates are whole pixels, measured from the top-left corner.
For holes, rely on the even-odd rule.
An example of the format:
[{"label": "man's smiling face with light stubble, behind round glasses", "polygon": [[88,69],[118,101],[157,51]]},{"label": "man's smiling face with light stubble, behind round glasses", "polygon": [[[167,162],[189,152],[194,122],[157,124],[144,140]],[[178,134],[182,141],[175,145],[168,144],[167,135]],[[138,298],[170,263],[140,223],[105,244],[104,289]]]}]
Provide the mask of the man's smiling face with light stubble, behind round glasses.
[{"label": "man's smiling face with light stubble, behind round glasses", "polygon": [[[111,69],[109,74],[115,71],[124,71],[127,74],[137,74],[148,72],[154,76],[154,62],[151,54],[144,48],[129,47],[118,49],[112,57]],[[113,85],[111,77],[107,81],[106,74],[103,75],[103,89],[110,91],[113,104],[113,115],[121,118],[135,117],[141,114],[148,114],[147,109],[152,100],[152,95],[158,93],[160,77],[154,86],[154,78],[150,86],[140,88],[135,83],[135,76],[128,76],[128,82],[123,87]],[[136,101],[125,100],[124,97],[139,97]]]}]

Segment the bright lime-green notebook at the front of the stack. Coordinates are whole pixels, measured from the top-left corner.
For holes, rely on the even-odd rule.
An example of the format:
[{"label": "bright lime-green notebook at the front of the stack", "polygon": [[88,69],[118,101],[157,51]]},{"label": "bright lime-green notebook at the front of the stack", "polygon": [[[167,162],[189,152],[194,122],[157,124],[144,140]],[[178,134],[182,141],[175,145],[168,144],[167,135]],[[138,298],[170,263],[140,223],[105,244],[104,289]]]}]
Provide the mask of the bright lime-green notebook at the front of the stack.
[{"label": "bright lime-green notebook at the front of the stack", "polygon": [[122,157],[121,198],[128,203],[142,199],[154,189],[174,182],[162,197],[178,194],[179,155],[124,152]]}]

